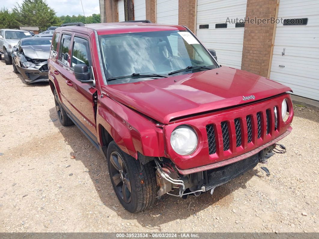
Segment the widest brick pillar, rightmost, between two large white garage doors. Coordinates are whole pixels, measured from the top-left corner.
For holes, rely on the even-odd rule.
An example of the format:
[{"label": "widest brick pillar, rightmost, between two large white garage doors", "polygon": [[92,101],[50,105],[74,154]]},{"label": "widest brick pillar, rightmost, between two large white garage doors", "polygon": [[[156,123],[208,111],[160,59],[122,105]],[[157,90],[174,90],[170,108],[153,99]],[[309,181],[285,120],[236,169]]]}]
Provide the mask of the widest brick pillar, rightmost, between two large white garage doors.
[{"label": "widest brick pillar, rightmost, between two large white garage doors", "polygon": [[[277,0],[247,0],[246,19],[276,17]],[[274,24],[245,24],[241,69],[267,77]]]}]

